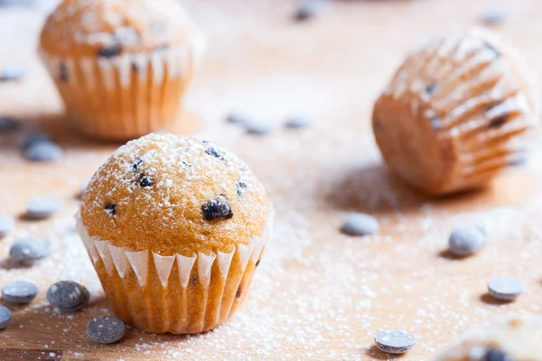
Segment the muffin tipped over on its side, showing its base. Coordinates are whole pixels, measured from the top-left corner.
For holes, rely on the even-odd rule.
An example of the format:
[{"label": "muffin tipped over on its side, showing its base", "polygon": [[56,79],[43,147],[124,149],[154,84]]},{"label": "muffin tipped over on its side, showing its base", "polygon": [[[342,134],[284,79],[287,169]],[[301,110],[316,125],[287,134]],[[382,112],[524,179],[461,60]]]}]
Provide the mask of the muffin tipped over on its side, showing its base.
[{"label": "muffin tipped over on its side, showing its base", "polygon": [[487,32],[429,39],[374,106],[385,162],[429,194],[484,186],[526,158],[537,126],[532,79],[516,51]]}]

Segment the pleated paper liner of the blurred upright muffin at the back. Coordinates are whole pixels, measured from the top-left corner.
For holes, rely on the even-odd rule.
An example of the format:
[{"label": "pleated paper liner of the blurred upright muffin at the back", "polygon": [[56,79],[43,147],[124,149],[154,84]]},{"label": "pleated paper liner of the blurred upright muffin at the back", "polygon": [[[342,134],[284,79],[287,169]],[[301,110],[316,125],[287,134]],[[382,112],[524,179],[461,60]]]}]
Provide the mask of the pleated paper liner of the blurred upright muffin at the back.
[{"label": "pleated paper liner of the blurred upright muffin at the back", "polygon": [[84,132],[107,139],[130,139],[171,125],[201,59],[205,42],[163,50],[98,56],[40,56],[70,119]]}]

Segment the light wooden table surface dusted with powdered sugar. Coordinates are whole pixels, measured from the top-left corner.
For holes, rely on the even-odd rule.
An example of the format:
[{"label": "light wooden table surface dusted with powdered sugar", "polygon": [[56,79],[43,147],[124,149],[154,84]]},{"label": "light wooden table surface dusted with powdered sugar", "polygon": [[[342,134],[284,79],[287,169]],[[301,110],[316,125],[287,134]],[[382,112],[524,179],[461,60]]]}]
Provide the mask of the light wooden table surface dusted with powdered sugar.
[{"label": "light wooden table surface dusted with powdered sugar", "polygon": [[[26,162],[17,135],[0,136],[0,214],[17,230],[0,240],[5,260],[17,237],[49,237],[50,257],[29,269],[2,263],[0,285],[27,279],[38,299],[13,307],[0,331],[1,360],[425,360],[472,326],[509,312],[540,313],[542,304],[542,152],[492,186],[448,199],[426,199],[390,178],[370,131],[372,103],[406,50],[420,36],[479,23],[502,6],[495,31],[542,71],[542,3],[537,0],[336,1],[309,23],[289,21],[294,2],[187,0],[208,36],[208,50],[185,99],[181,131],[206,137],[245,159],[277,210],[275,236],[248,297],[229,323],[190,337],[148,335],[100,346],[85,336],[89,319],[109,312],[73,214],[80,184],[119,144],[92,142],[62,116],[60,98],[35,55],[46,14],[0,9],[0,66],[21,62],[22,82],[0,84],[0,114],[22,119],[19,134],[41,129],[66,150],[62,162]],[[276,125],[250,136],[223,119],[231,111]],[[313,118],[312,129],[281,128],[287,116]],[[199,125],[194,125],[198,122]],[[61,214],[45,221],[22,215],[34,196],[59,197]],[[338,231],[349,211],[381,222],[377,236]],[[444,253],[453,227],[479,225],[489,245],[467,259]],[[521,278],[518,301],[492,301],[493,275]],[[61,279],[85,284],[86,310],[64,314],[45,300]],[[406,329],[417,338],[405,356],[372,345],[380,329]]]}]

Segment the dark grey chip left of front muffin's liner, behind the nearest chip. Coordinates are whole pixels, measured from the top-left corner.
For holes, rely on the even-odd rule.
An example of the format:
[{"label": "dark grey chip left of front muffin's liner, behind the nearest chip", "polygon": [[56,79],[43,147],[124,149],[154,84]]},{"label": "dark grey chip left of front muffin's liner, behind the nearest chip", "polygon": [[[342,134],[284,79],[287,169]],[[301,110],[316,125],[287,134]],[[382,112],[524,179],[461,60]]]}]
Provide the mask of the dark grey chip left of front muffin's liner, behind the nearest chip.
[{"label": "dark grey chip left of front muffin's liner, behind the nearest chip", "polygon": [[89,298],[87,288],[73,281],[56,282],[47,290],[47,301],[67,312],[81,310]]}]

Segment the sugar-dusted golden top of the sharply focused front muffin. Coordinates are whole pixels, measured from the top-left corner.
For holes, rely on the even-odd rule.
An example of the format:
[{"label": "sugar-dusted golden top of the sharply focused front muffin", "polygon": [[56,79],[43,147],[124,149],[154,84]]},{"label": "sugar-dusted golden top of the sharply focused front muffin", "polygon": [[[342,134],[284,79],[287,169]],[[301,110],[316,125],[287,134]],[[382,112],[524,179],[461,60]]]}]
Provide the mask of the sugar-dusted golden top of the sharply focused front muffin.
[{"label": "sugar-dusted golden top of the sharply focused front muffin", "polygon": [[98,169],[80,214],[89,236],[112,245],[192,256],[260,236],[268,200],[248,166],[219,145],[149,134]]}]

